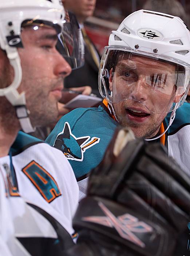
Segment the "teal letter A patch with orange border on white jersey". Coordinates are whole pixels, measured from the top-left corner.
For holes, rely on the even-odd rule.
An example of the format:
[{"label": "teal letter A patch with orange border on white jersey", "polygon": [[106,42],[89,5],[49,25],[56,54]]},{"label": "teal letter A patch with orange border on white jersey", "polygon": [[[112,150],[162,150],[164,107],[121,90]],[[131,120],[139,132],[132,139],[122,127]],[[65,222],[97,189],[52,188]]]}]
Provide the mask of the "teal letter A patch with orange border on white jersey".
[{"label": "teal letter A patch with orange border on white jersey", "polygon": [[62,195],[57,182],[51,174],[34,160],[28,163],[22,171],[48,203]]}]

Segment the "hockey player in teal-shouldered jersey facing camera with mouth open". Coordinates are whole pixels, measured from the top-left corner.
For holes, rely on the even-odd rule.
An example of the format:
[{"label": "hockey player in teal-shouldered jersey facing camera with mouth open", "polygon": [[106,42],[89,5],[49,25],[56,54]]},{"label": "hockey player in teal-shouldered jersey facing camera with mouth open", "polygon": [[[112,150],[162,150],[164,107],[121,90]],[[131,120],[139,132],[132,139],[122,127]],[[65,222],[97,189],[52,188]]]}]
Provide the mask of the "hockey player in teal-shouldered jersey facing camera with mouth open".
[{"label": "hockey player in teal-shouldered jersey facing camera with mouth open", "polygon": [[[190,33],[180,18],[141,10],[112,31],[99,69],[103,103],[63,116],[46,139],[70,161],[80,197],[119,124],[138,138],[160,141],[190,174],[190,105],[183,104],[189,80]],[[86,141],[74,145],[66,136]]]}]

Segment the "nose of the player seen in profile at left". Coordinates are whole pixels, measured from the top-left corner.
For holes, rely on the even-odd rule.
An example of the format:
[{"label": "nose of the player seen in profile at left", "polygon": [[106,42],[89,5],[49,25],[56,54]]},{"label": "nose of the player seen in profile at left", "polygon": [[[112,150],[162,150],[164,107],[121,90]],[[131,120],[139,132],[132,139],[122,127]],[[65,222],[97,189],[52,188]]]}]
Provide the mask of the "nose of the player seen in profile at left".
[{"label": "nose of the player seen in profile at left", "polygon": [[65,78],[66,76],[71,74],[71,71],[72,69],[68,62],[60,53],[57,53],[54,74],[56,76]]}]

